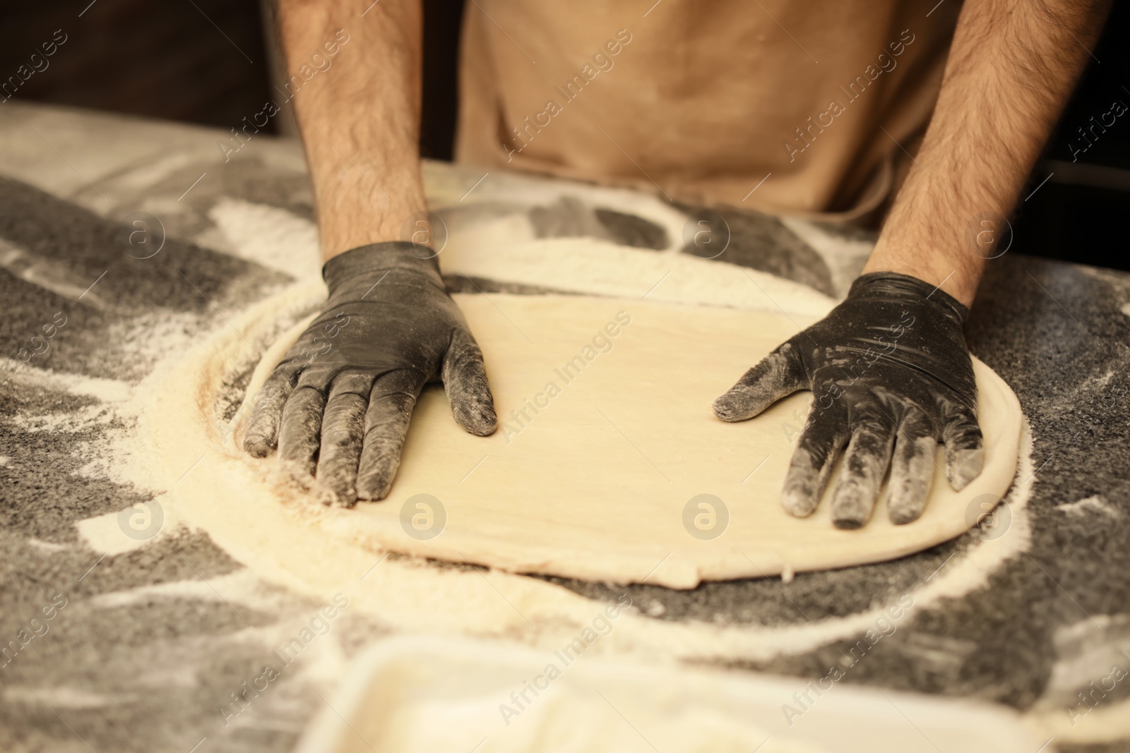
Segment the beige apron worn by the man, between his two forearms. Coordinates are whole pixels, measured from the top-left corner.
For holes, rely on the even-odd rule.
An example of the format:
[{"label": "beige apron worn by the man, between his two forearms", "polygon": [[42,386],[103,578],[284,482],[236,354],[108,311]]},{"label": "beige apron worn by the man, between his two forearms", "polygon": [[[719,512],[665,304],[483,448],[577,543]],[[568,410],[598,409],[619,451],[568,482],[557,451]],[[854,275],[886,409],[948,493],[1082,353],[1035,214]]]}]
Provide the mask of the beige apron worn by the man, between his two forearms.
[{"label": "beige apron worn by the man, between his two forearms", "polygon": [[932,11],[933,0],[652,2],[471,0],[457,159],[859,218],[924,132],[958,11],[957,0]]}]

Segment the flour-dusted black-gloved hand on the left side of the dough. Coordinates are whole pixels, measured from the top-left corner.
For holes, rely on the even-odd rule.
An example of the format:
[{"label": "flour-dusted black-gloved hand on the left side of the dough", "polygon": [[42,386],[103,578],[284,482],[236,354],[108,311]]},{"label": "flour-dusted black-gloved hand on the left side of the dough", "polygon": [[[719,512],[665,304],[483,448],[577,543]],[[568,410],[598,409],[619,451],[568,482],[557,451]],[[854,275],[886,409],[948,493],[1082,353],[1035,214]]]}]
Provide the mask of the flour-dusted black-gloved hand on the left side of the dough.
[{"label": "flour-dusted black-gloved hand on the left side of the dough", "polygon": [[255,403],[244,449],[314,474],[327,504],[389,493],[412,406],[442,379],[455,421],[495,430],[483,352],[444,290],[435,259],[391,242],[325,262],[325,309],[275,367]]}]

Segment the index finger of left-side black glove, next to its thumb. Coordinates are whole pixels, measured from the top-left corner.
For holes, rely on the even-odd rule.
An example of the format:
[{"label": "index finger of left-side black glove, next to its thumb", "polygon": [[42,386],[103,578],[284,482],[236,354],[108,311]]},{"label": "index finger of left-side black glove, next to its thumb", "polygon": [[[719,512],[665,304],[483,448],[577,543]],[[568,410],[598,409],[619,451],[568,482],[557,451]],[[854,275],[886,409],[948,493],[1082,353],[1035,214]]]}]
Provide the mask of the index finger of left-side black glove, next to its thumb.
[{"label": "index finger of left-side black glove, next to its thumb", "polygon": [[357,499],[384,499],[400,465],[412,408],[427,378],[419,371],[385,374],[368,399],[365,444],[357,470]]}]

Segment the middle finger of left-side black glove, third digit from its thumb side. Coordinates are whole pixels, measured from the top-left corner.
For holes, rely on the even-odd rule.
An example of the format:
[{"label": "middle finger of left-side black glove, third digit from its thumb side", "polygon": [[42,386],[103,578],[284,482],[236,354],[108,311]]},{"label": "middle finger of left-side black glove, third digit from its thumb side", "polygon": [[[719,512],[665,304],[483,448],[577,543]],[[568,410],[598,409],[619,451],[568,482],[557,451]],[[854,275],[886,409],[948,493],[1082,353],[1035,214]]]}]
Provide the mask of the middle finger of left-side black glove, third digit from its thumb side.
[{"label": "middle finger of left-side black glove, third digit from its thumb side", "polygon": [[318,481],[329,505],[353,507],[357,501],[357,466],[365,440],[365,411],[373,385],[372,374],[338,376],[322,414],[322,443],[318,455]]}]

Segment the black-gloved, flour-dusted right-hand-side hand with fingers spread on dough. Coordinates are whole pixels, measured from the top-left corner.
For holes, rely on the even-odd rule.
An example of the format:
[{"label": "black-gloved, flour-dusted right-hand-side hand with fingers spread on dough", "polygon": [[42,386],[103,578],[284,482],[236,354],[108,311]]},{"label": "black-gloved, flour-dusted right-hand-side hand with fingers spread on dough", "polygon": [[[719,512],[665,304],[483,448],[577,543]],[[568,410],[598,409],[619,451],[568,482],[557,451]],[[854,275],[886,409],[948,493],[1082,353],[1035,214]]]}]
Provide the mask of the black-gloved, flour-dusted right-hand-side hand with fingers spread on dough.
[{"label": "black-gloved, flour-dusted right-hand-side hand with fingers spread on dough", "polygon": [[[968,309],[916,278],[860,277],[824,319],[774,350],[714,401],[723,421],[744,421],[798,389],[812,406],[785,476],[782,505],[796,516],[819,504],[847,445],[832,498],[840,528],[867,523],[890,467],[890,520],[918,519],[946,445],[955,490],[984,464],[977,386],[962,326]],[[892,457],[892,453],[894,457]]]}]

